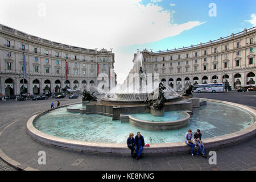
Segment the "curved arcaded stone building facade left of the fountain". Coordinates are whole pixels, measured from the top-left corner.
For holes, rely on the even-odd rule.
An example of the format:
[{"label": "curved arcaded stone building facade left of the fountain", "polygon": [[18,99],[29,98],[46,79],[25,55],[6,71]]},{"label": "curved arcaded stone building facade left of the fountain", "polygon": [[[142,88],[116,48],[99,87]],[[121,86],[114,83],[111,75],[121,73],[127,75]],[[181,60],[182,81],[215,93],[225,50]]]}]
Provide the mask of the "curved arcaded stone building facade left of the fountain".
[{"label": "curved arcaded stone building facade left of the fountain", "polygon": [[61,92],[65,86],[96,90],[97,76],[109,75],[114,68],[112,51],[68,46],[0,24],[0,93],[6,96],[23,92],[23,53],[27,73],[24,93],[30,94]]}]

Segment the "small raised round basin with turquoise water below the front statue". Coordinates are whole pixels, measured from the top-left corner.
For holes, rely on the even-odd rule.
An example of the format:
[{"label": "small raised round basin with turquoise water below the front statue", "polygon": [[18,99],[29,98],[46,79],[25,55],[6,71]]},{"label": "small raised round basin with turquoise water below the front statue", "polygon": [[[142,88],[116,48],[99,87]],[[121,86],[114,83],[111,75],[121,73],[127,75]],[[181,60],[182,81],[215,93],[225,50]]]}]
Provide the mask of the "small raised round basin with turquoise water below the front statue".
[{"label": "small raised round basin with turquoise water below the front statue", "polygon": [[184,111],[165,112],[163,117],[157,117],[150,113],[129,115],[130,125],[152,131],[181,129],[188,125],[189,119],[190,115]]}]

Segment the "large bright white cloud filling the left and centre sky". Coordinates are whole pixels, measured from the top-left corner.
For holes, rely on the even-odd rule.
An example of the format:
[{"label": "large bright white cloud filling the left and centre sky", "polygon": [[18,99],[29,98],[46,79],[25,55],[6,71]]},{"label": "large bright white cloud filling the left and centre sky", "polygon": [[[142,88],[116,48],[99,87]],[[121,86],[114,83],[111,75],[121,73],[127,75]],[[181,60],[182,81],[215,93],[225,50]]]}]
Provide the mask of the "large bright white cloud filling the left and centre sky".
[{"label": "large bright white cloud filling the left and centre sky", "polygon": [[113,48],[115,71],[127,75],[133,55],[116,49],[156,42],[204,23],[195,20],[175,24],[175,11],[155,3],[160,1],[143,5],[142,0],[6,0],[0,7],[0,22],[59,43]]}]

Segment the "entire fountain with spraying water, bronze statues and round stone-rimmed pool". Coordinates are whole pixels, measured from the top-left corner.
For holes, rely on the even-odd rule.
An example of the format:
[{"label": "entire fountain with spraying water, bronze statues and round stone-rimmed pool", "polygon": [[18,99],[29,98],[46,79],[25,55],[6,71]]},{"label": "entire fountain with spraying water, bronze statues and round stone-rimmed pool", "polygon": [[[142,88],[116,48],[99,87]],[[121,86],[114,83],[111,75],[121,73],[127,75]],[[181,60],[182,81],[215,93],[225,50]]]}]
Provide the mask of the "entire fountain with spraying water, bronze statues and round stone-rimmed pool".
[{"label": "entire fountain with spraying water, bronze statues and round stone-rimmed pool", "polygon": [[31,117],[27,122],[28,134],[40,142],[69,150],[121,154],[129,152],[127,135],[138,130],[150,143],[150,148],[143,152],[151,154],[188,151],[183,141],[188,129],[201,129],[208,148],[255,135],[254,109],[193,98],[190,84],[181,96],[170,86],[155,82],[159,80],[157,76],[144,73],[141,52],[135,54],[133,63],[124,83],[105,93],[101,100],[84,91],[82,104]]}]

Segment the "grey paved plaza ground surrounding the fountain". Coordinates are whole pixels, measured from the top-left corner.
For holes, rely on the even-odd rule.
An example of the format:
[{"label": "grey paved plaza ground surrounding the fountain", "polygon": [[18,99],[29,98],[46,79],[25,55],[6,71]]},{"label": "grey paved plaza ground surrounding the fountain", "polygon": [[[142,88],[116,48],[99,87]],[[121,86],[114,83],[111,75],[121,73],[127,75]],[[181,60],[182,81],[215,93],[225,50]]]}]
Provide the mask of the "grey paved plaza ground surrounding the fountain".
[{"label": "grey paved plaza ground surrounding the fountain", "polygon": [[[256,92],[246,93],[195,93],[195,97],[212,98],[255,109]],[[226,146],[215,150],[217,165],[210,165],[208,159],[201,156],[192,158],[189,154],[143,155],[136,160],[129,155],[106,155],[80,153],[46,146],[33,140],[26,131],[26,123],[34,113],[47,110],[51,101],[14,101],[7,100],[0,104],[0,149],[9,158],[15,160],[19,168],[31,167],[38,170],[255,170],[255,137],[240,144]],[[80,102],[78,100],[60,99],[61,105]],[[11,124],[11,125],[10,125]],[[4,130],[3,130],[4,129]],[[46,152],[46,165],[38,164],[38,152]],[[206,148],[206,154],[207,151]],[[209,157],[208,157],[209,158]],[[16,170],[1,160],[0,170]]]}]

